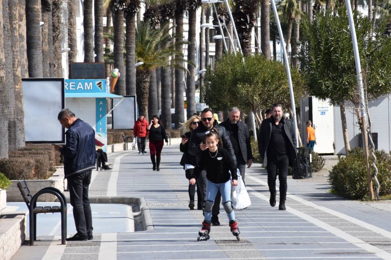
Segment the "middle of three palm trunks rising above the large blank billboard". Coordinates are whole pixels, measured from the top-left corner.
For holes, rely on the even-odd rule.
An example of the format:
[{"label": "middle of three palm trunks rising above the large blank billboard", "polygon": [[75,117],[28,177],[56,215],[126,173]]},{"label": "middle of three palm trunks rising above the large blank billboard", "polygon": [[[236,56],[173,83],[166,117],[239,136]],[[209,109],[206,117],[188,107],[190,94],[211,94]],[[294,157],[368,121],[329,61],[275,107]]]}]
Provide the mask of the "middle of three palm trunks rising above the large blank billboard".
[{"label": "middle of three palm trunks rising above the large blank billboard", "polygon": [[[41,0],[42,10],[42,73],[43,77],[50,77],[50,52],[48,43],[49,16],[52,17],[52,1]],[[53,43],[53,41],[52,41]]]}]

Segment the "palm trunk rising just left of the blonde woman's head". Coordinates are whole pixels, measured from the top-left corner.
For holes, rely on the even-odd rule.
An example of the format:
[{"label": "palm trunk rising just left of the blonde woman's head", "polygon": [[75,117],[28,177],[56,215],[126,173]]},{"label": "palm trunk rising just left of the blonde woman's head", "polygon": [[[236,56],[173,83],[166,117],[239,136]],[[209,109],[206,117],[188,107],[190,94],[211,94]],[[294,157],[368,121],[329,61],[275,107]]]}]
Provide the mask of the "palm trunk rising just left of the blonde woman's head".
[{"label": "palm trunk rising just left of the blonde woman's head", "polygon": [[[176,23],[176,38],[179,41],[183,40],[183,15],[182,10],[176,9],[175,11],[175,23]],[[176,45],[175,50],[178,53],[183,53],[182,44]],[[176,59],[180,59],[180,55],[175,55]],[[185,117],[184,113],[184,104],[183,104],[183,70],[175,68],[175,128],[179,129],[181,123],[183,123],[183,118]]]}]

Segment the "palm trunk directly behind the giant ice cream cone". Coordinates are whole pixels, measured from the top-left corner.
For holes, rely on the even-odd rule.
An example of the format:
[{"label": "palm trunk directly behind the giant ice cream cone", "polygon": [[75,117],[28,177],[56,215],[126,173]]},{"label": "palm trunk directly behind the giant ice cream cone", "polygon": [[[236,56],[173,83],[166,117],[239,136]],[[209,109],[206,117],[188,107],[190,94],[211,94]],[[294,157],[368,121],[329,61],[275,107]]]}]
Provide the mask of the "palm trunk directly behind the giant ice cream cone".
[{"label": "palm trunk directly behind the giant ice cream cone", "polygon": [[[124,68],[124,10],[119,10],[114,15],[114,67],[118,68],[121,73],[121,77],[118,78],[115,86],[115,93],[122,96],[126,95],[126,71]],[[148,112],[148,110],[146,112]],[[145,113],[145,115],[147,115],[147,113]]]}]

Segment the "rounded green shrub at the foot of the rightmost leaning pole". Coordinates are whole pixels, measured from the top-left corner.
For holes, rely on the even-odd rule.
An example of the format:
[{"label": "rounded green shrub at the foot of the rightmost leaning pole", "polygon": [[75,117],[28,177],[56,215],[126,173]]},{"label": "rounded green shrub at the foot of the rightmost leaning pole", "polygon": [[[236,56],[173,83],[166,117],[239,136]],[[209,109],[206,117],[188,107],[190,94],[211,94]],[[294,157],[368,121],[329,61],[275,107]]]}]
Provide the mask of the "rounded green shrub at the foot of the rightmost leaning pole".
[{"label": "rounded green shrub at the foot of the rightmost leaning pole", "polygon": [[[391,194],[391,156],[385,151],[375,151],[377,157],[379,195]],[[370,161],[371,163],[371,161]],[[373,172],[373,167],[371,167]],[[328,177],[334,194],[348,199],[364,199],[368,196],[368,179],[365,158],[361,148],[354,148],[341,157]],[[375,187],[375,182],[373,181]]]}]

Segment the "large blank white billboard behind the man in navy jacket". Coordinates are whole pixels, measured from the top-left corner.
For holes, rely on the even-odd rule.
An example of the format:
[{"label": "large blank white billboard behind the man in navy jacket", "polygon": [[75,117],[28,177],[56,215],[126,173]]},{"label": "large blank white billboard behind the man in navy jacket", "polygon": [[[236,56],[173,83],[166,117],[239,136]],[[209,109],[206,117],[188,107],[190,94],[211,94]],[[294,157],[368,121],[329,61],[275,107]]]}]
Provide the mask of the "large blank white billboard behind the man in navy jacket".
[{"label": "large blank white billboard behind the man in navy jacket", "polygon": [[65,108],[64,79],[22,79],[26,142],[65,143],[57,120]]}]

